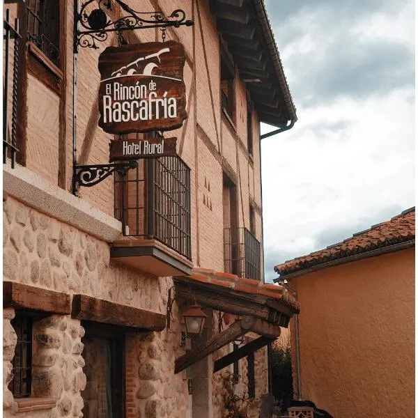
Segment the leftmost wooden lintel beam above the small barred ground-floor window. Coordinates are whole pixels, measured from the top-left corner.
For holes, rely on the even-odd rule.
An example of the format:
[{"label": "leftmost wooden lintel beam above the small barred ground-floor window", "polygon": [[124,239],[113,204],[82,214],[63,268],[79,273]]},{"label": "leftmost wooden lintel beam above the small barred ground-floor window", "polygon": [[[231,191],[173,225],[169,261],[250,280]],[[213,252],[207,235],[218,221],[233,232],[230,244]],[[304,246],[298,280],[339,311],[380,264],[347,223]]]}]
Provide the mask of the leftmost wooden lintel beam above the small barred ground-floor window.
[{"label": "leftmost wooden lintel beam above the small barred ground-floor window", "polygon": [[10,307],[61,315],[71,313],[70,295],[15,281],[3,281],[3,308]]}]

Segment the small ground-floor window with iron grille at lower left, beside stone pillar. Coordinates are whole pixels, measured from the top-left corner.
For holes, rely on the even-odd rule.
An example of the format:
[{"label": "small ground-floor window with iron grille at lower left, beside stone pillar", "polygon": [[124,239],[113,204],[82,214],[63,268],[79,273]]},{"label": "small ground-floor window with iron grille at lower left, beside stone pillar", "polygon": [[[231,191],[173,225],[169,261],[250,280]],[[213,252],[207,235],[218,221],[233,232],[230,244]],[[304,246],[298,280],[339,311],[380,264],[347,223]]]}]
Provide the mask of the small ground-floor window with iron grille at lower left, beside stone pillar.
[{"label": "small ground-floor window with iron grille at lower left, beside stone pillar", "polygon": [[13,357],[13,379],[8,388],[15,398],[31,396],[32,385],[32,325],[31,316],[16,313],[11,324],[17,334],[15,357]]}]

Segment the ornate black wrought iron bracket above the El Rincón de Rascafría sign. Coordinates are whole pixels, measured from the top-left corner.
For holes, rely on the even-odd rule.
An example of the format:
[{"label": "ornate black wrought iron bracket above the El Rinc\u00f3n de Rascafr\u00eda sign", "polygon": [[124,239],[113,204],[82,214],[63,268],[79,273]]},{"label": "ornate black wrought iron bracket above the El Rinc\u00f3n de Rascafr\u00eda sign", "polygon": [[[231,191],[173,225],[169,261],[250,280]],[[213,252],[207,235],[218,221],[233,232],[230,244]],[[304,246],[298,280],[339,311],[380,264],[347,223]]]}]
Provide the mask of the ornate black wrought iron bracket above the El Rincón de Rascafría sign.
[{"label": "ornate black wrought iron bracket above the El Rinc\u00f3n de Rascafr\u00eda sign", "polygon": [[[94,8],[93,5],[94,3]],[[127,15],[116,20],[109,20],[107,10],[112,10],[112,3],[116,3]],[[91,6],[91,7],[89,7]],[[93,9],[93,10],[92,10]],[[82,3],[80,10],[75,0],[75,30],[74,52],[77,54],[78,47],[98,49],[96,42],[107,40],[107,33],[134,31],[136,29],[176,28],[185,25],[192,26],[193,20],[186,20],[184,10],[173,10],[169,17],[162,12],[138,12],[133,10],[122,0],[87,0]],[[81,29],[79,29],[79,25]]]}]

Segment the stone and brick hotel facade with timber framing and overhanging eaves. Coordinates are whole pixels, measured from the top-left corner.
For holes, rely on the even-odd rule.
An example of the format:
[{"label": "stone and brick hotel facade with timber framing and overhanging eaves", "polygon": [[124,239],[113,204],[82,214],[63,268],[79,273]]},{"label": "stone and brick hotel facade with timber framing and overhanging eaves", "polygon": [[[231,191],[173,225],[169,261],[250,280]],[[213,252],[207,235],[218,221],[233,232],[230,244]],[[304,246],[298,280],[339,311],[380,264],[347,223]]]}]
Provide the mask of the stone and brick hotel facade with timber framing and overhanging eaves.
[{"label": "stone and brick hotel facade with timber framing and overhanging eaves", "polygon": [[[225,417],[235,392],[247,416],[258,417],[268,393],[266,342],[216,373],[213,364],[233,350],[231,341],[176,373],[175,364],[239,323],[246,297],[265,309],[265,319],[255,316],[254,326],[242,328],[248,331],[242,346],[271,337],[298,309],[281,286],[263,284],[259,123],[295,121],[265,8],[256,0],[129,3],[166,16],[183,8],[194,21],[164,32],[185,47],[188,118],[166,135],[177,137],[173,158],[189,173],[189,253],[173,245],[173,236],[171,244],[157,234],[129,236],[132,222],[149,214],[137,212],[132,222],[128,215],[123,231],[117,176],[94,187],[73,184],[75,164],[109,161],[113,136],[98,127],[98,56],[121,42],[161,41],[160,28],[125,31],[122,38],[111,32],[98,49],[79,47],[75,54],[72,1],[4,5],[12,26],[19,19],[22,39],[3,45],[10,66],[3,115],[3,416]],[[108,19],[125,16],[111,4]],[[255,60],[246,58],[245,45],[255,48]],[[127,176],[136,185],[147,181],[134,171]],[[141,200],[127,199],[137,199],[136,206]],[[233,258],[248,242],[244,236],[255,260],[245,252]],[[180,285],[205,297],[208,288],[221,300],[208,302],[196,291],[208,318],[203,336],[186,344],[182,315],[191,301]],[[229,308],[230,297],[239,307]]]}]

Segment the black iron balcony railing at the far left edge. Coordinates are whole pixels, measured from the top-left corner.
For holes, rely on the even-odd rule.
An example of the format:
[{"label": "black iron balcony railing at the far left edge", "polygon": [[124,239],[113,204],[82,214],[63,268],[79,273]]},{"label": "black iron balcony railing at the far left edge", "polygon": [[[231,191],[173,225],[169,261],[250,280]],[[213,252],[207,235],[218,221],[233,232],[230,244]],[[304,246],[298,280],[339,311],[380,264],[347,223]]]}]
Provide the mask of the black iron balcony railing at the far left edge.
[{"label": "black iron balcony railing at the far left edge", "polygon": [[15,167],[17,129],[17,85],[19,50],[22,37],[19,33],[19,20],[14,26],[10,22],[10,10],[6,10],[3,20],[3,164],[10,157],[12,168]]}]

